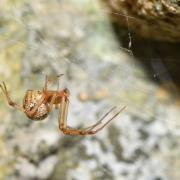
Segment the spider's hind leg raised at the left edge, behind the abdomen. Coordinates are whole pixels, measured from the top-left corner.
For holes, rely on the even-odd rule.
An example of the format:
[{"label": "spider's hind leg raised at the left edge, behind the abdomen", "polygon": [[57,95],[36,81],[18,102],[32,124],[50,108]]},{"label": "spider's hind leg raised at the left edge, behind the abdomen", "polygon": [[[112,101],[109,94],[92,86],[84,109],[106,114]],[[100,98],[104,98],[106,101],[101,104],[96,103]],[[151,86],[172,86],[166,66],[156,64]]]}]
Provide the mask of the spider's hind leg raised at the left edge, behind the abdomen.
[{"label": "spider's hind leg raised at the left edge, behind the abdomen", "polygon": [[15,103],[14,101],[12,101],[12,99],[11,99],[10,96],[9,96],[9,93],[8,93],[8,91],[7,91],[7,87],[6,87],[6,84],[5,84],[4,81],[2,82],[2,84],[0,84],[0,87],[1,87],[4,95],[6,96],[6,99],[7,99],[7,101],[8,101],[8,104],[9,104],[10,106],[12,106],[12,107],[20,110],[20,111],[24,111],[23,107],[21,107],[20,105],[18,105],[18,104]]}]

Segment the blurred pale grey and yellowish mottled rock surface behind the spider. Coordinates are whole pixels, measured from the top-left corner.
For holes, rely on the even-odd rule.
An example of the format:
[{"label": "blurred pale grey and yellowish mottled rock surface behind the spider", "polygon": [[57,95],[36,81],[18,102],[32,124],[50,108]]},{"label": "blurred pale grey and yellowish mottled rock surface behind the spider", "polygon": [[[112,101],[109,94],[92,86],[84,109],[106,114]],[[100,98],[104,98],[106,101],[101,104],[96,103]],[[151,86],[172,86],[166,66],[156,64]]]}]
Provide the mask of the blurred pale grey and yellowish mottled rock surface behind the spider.
[{"label": "blurred pale grey and yellowish mottled rock surface behind the spider", "polygon": [[0,92],[0,179],[180,178],[179,90],[161,61],[179,46],[154,56],[157,43],[117,30],[110,13],[97,0],[0,1],[0,81],[13,100],[22,104],[27,89],[41,89],[45,74],[64,73],[70,126],[87,127],[112,106],[127,106],[97,135],[64,136],[57,110],[33,122]]}]

